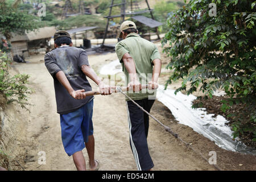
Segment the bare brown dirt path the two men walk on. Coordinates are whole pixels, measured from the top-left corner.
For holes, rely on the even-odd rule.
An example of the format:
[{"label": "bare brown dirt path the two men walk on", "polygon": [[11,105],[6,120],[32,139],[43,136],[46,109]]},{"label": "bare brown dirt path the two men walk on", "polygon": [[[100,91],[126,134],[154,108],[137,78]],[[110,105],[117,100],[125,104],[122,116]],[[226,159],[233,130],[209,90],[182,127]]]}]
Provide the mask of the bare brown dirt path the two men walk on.
[{"label": "bare brown dirt path the two men walk on", "polygon": [[[97,71],[105,60],[116,59],[115,53],[91,55],[89,63]],[[31,75],[30,86],[35,90],[30,98],[31,114],[27,126],[28,142],[26,170],[75,170],[72,157],[65,154],[61,143],[60,119],[56,113],[53,81],[43,63],[43,55],[28,59],[30,63],[15,64],[20,73]],[[96,85],[92,83],[94,89]],[[191,128],[175,121],[170,110],[156,101],[152,114],[165,125],[170,126],[185,141],[192,143],[196,150],[206,156],[209,151],[217,152],[217,165],[229,170],[255,170],[256,158],[222,150],[209,139],[197,134]],[[171,122],[170,122],[171,121]],[[121,94],[96,96],[94,99],[94,137],[96,140],[96,158],[101,162],[100,170],[137,170],[129,146],[127,111]],[[155,164],[155,170],[214,170],[193,151],[188,150],[169,133],[150,119],[148,146]],[[38,152],[46,152],[46,164],[38,164]],[[86,150],[83,151],[88,161]],[[239,164],[242,164],[239,165]]]}]

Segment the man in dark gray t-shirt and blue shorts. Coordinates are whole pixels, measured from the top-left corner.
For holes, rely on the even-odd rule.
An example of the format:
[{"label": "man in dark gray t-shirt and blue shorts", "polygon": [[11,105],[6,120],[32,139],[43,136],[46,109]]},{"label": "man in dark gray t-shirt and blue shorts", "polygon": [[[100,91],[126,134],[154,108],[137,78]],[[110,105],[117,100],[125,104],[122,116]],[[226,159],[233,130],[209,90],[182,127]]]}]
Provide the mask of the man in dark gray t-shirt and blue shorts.
[{"label": "man in dark gray t-shirt and blue shorts", "polygon": [[111,94],[111,89],[90,67],[86,51],[72,47],[68,32],[55,32],[54,41],[55,49],[44,56],[44,62],[54,81],[63,146],[68,156],[73,156],[77,170],[86,170],[82,154],[86,147],[90,169],[97,170],[92,123],[94,97],[86,97],[85,91],[92,90],[86,76],[96,82],[102,95]]}]

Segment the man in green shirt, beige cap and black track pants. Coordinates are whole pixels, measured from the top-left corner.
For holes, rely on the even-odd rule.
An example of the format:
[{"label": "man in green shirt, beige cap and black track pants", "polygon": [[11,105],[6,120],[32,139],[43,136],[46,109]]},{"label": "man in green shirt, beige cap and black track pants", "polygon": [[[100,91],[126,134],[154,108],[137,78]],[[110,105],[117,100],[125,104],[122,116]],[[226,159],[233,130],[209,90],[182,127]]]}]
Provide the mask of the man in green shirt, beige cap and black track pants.
[{"label": "man in green shirt, beige cap and black track pants", "polygon": [[[139,171],[151,170],[154,167],[147,146],[148,115],[137,107],[141,105],[147,113],[155,102],[155,92],[142,92],[142,83],[149,89],[158,88],[158,77],[161,72],[160,53],[154,43],[141,38],[134,22],[125,21],[120,27],[119,38],[123,40],[115,46],[115,52],[122,64],[127,87],[135,93],[127,93],[134,100],[126,98],[130,146]],[[138,73],[138,75],[137,75]],[[138,78],[139,77],[139,78]],[[137,103],[137,104],[134,104]]]}]

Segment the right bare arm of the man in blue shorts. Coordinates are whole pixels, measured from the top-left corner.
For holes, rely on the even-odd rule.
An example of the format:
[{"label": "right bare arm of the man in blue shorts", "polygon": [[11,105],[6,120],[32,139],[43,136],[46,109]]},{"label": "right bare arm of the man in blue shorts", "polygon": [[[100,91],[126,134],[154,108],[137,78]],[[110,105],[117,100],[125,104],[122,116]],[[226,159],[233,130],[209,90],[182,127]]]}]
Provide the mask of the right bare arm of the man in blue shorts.
[{"label": "right bare arm of the man in blue shorts", "polygon": [[89,65],[82,65],[81,70],[99,86],[102,95],[109,95],[112,93],[110,86],[105,85]]}]

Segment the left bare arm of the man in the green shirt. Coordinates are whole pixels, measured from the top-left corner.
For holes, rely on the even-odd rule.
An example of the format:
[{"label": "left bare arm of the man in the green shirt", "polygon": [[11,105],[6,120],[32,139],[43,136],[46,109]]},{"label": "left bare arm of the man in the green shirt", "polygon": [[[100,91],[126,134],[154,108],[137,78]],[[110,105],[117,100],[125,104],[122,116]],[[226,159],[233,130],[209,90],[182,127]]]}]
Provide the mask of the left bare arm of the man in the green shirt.
[{"label": "left bare arm of the man in the green shirt", "polygon": [[123,64],[125,64],[125,68],[127,69],[129,73],[129,84],[127,87],[132,87],[135,92],[138,92],[141,90],[141,84],[137,80],[137,73],[136,73],[136,67],[133,60],[133,57],[130,56],[129,53],[125,53],[122,57]]}]

